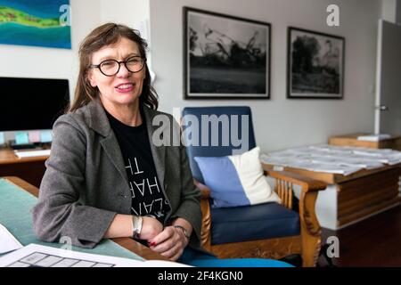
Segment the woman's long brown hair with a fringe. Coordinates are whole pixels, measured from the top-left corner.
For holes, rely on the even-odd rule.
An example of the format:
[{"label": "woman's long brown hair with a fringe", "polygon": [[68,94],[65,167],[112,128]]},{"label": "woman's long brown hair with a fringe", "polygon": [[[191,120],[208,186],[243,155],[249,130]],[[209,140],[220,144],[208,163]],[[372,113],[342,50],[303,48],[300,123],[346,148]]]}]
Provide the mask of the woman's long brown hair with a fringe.
[{"label": "woman's long brown hair with a fringe", "polygon": [[94,30],[84,39],[79,46],[79,74],[75,88],[74,100],[70,104],[68,112],[78,110],[78,108],[87,105],[98,96],[97,87],[92,87],[87,78],[87,72],[91,64],[91,56],[94,52],[107,45],[113,45],[119,42],[121,37],[125,37],[138,45],[139,53],[145,62],[146,76],[143,80],[142,94],[139,96],[139,102],[143,103],[152,110],[157,110],[159,106],[158,95],[151,86],[151,74],[146,63],[146,41],[140,36],[139,32],[125,25],[107,23]]}]

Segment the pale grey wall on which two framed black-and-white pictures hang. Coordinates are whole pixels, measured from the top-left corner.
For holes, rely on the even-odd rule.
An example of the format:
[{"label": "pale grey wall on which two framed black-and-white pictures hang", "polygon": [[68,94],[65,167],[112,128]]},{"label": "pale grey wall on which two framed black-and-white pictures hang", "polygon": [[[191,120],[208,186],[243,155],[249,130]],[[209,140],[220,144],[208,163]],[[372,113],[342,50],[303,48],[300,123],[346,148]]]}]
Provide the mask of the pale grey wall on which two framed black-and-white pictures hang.
[{"label": "pale grey wall on which two framed black-and-white pictures hang", "polygon": [[[326,25],[326,7],[339,4],[340,27]],[[183,14],[189,6],[272,24],[271,100],[184,101]],[[373,131],[377,21],[380,0],[151,0],[151,50],[160,110],[249,105],[262,151],[327,142],[334,134]],[[344,100],[287,100],[287,27],[346,38]]]}]

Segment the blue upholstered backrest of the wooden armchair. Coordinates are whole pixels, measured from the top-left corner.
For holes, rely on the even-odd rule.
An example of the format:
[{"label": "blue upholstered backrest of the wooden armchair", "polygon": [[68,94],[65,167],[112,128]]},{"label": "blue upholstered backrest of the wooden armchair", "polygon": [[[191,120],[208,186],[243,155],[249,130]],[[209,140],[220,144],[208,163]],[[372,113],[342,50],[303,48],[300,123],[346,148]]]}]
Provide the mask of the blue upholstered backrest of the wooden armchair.
[{"label": "blue upholstered backrest of the wooden armchair", "polygon": [[[243,140],[248,141],[248,148],[247,150],[244,151],[249,151],[256,147],[256,142],[255,142],[255,135],[253,132],[253,125],[252,125],[252,114],[250,111],[250,107],[248,106],[217,106],[217,107],[186,107],[183,110],[183,129],[185,130],[187,127],[192,127],[188,126],[189,124],[189,118],[188,115],[194,116],[198,118],[198,122],[202,122],[201,116],[202,115],[216,115],[217,117],[221,115],[227,115],[227,116],[232,116],[232,115],[238,115],[238,137],[241,138],[241,142]],[[247,115],[249,116],[248,120],[248,126],[245,126],[246,129],[248,130],[248,137],[242,137],[243,135],[241,134],[241,116],[242,115]],[[229,121],[230,123],[230,132],[231,132],[231,123],[232,121]],[[201,123],[199,124],[201,126]],[[195,129],[193,129],[194,131]],[[198,137],[199,141],[201,142],[202,140],[202,128],[198,128]],[[190,167],[192,170],[192,175],[193,178],[195,178],[197,181],[204,183],[203,181],[203,176],[201,174],[201,170],[199,169],[196,161],[194,160],[195,157],[220,157],[220,156],[226,156],[226,155],[232,155],[233,150],[238,150],[241,148],[240,146],[234,146],[233,142],[230,140],[229,145],[223,145],[222,143],[222,127],[220,126],[218,128],[218,133],[219,133],[219,140],[218,140],[218,146],[213,146],[211,143],[211,132],[212,128],[209,127],[209,144],[206,146],[202,146],[201,143],[199,145],[188,145],[186,148],[186,151],[188,153],[188,159],[190,162]]]}]

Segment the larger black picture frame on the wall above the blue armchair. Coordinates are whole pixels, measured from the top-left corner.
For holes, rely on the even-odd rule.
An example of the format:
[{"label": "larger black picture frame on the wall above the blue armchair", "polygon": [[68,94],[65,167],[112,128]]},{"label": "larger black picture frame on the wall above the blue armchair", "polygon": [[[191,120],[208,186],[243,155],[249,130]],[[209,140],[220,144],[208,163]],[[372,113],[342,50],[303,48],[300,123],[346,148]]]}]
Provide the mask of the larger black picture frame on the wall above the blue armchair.
[{"label": "larger black picture frame on the wall above the blue armchair", "polygon": [[[192,44],[190,43],[191,37],[189,36],[190,29],[193,29],[192,23],[193,20],[191,21],[192,15],[195,15],[199,17],[199,21],[201,22],[206,21],[208,19],[208,23],[211,22],[213,24],[213,20],[216,21],[223,21],[225,22],[225,27],[226,30],[223,32],[221,30],[215,31],[213,30],[212,33],[215,34],[221,34],[223,35],[227,31],[232,31],[233,27],[237,27],[235,31],[238,33],[239,37],[250,37],[250,35],[244,35],[244,33],[241,31],[251,30],[254,28],[254,33],[252,34],[252,37],[250,37],[250,41],[248,42],[250,45],[246,45],[247,50],[243,52],[243,41],[236,40],[233,37],[229,36],[222,36],[225,38],[230,38],[230,43],[231,43],[231,49],[225,48],[225,50],[230,51],[230,55],[232,57],[230,58],[228,55],[226,55],[226,58],[220,57],[218,58],[218,54],[214,55],[214,57],[217,57],[219,61],[217,61],[217,64],[221,64],[222,66],[219,65],[213,65],[216,64],[216,59],[211,58],[210,54],[211,53],[203,53],[201,56],[194,56],[192,51],[190,51],[190,46]],[[201,19],[203,17],[203,19]],[[210,20],[211,19],[211,20]],[[210,21],[209,21],[210,20]],[[235,17],[232,15],[227,15],[224,13],[218,13],[218,12],[209,12],[209,11],[204,11],[192,7],[183,7],[183,26],[184,26],[184,37],[183,37],[183,42],[184,42],[184,50],[183,50],[183,55],[184,55],[184,74],[183,74],[183,81],[184,81],[184,100],[235,100],[235,99],[258,99],[258,100],[269,100],[270,99],[270,77],[271,77],[271,30],[272,26],[270,23],[265,22],[265,21],[259,21],[259,20],[250,20],[250,19],[245,19],[245,18],[240,18],[240,17]],[[231,28],[230,28],[231,27]],[[241,27],[238,29],[238,27]],[[220,26],[221,28],[221,26]],[[210,30],[212,30],[210,28]],[[265,31],[265,34],[262,33],[262,37],[258,38],[258,40],[255,39],[256,36],[258,36],[260,33],[259,31]],[[205,33],[206,35],[206,33]],[[206,37],[206,36],[205,36]],[[254,41],[254,42],[252,42]],[[258,44],[255,44],[257,43]],[[233,45],[236,45],[239,43],[238,46],[241,48],[241,52],[243,53],[248,53],[249,57],[244,57],[245,60],[242,61],[243,66],[241,65],[236,65],[238,64],[236,61],[239,60],[232,60],[233,57]],[[207,43],[206,45],[212,46],[215,43]],[[228,45],[227,45],[228,46]],[[237,47],[238,47],[237,46]],[[257,47],[255,47],[257,46]],[[221,49],[223,50],[223,49]],[[207,51],[207,48],[202,50],[203,52]],[[191,53],[191,54],[190,54]],[[219,53],[219,52],[217,52]],[[236,53],[239,54],[239,53]],[[196,64],[203,64],[201,68],[199,68],[199,65],[196,66],[193,64],[193,59],[196,59],[198,63]],[[202,60],[207,60],[203,61]],[[214,59],[215,61],[211,61],[210,59]],[[209,62],[209,65],[206,65],[206,62]],[[211,63],[210,63],[211,62]],[[242,68],[245,67],[245,68]],[[204,78],[200,76],[197,76],[196,71],[203,69],[203,74],[206,74],[209,76],[209,78]],[[207,71],[205,71],[207,70]],[[225,73],[224,73],[225,71]],[[218,73],[220,72],[220,73]],[[220,74],[228,74],[228,77],[218,77]],[[233,77],[230,77],[230,76]],[[255,75],[255,77],[251,77],[251,75]],[[238,77],[237,78],[234,77]],[[246,79],[249,78],[250,82],[246,82],[246,84],[241,85],[241,81],[246,81]],[[222,79],[222,81],[217,82],[218,80]],[[208,81],[209,80],[209,81]],[[229,82],[231,80],[231,82]],[[252,82],[253,80],[253,82]],[[226,81],[226,82],[224,82]],[[218,85],[218,86],[216,86]],[[203,89],[202,89],[203,88]],[[233,91],[233,92],[225,92],[225,91]],[[253,92],[255,91],[255,92]]]}]

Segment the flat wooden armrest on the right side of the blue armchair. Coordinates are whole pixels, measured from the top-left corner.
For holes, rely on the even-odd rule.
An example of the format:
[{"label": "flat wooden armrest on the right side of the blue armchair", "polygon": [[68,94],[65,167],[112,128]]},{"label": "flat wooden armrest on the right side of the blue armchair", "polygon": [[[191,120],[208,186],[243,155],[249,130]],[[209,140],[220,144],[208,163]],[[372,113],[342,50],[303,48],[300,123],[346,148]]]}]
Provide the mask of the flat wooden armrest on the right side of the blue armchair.
[{"label": "flat wooden armrest on the right side of the blue armchair", "polygon": [[265,175],[269,175],[273,178],[300,185],[302,187],[302,191],[307,192],[320,191],[326,189],[327,187],[327,183],[288,171],[267,170],[265,171]]}]

